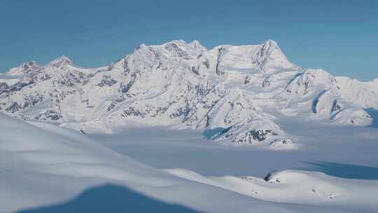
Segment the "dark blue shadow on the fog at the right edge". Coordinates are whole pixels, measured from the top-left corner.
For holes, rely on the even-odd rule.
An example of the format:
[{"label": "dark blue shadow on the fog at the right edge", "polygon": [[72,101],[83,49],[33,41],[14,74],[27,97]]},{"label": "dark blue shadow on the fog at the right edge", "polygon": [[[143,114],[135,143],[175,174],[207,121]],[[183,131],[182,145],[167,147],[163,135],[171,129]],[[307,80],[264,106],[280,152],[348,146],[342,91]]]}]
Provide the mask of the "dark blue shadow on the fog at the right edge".
[{"label": "dark blue shadow on the fog at the right edge", "polygon": [[330,162],[304,162],[312,170],[347,179],[378,179],[378,167]]}]

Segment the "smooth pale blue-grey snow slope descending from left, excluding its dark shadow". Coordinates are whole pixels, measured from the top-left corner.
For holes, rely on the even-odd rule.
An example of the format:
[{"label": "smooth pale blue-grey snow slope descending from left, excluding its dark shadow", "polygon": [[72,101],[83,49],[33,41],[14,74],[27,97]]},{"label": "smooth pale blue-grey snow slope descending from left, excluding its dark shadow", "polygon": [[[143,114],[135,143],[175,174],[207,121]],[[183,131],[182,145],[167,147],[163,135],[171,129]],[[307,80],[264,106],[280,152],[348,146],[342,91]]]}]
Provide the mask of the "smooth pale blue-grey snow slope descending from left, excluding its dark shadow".
[{"label": "smooth pale blue-grey snow slope descending from left, excluding its dark shadow", "polygon": [[0,130],[1,212],[54,205],[106,183],[201,212],[348,212],[267,202],[182,179],[48,123],[29,124],[0,114]]}]

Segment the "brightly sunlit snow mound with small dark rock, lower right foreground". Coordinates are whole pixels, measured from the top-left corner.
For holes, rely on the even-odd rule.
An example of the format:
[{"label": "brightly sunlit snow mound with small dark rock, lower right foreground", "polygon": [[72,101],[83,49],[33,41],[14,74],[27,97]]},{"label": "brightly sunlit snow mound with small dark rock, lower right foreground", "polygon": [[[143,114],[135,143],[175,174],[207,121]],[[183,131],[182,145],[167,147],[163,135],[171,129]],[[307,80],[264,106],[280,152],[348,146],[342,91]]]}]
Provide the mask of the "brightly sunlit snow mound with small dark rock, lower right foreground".
[{"label": "brightly sunlit snow mound with small dark rock, lower right foreground", "polygon": [[204,177],[188,170],[167,170],[178,177],[197,181],[262,200],[339,207],[377,212],[378,181],[342,179],[321,172],[284,170],[256,177]]}]

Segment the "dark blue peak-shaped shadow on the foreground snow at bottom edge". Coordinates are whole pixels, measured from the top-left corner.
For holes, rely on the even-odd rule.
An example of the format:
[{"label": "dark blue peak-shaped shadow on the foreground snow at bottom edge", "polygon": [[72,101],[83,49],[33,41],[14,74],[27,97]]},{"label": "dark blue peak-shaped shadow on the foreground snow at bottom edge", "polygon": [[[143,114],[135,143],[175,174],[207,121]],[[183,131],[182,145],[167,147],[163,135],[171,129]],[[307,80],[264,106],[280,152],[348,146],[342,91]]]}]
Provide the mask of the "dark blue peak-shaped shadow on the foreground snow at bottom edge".
[{"label": "dark blue peak-shaped shadow on the foreground snow at bottom edge", "polygon": [[90,188],[73,200],[62,204],[51,205],[47,207],[37,207],[34,209],[25,209],[18,213],[103,213],[103,212],[183,212],[196,213],[193,209],[188,209],[181,205],[169,204],[148,198],[145,195],[137,193],[113,184],[106,184]]}]

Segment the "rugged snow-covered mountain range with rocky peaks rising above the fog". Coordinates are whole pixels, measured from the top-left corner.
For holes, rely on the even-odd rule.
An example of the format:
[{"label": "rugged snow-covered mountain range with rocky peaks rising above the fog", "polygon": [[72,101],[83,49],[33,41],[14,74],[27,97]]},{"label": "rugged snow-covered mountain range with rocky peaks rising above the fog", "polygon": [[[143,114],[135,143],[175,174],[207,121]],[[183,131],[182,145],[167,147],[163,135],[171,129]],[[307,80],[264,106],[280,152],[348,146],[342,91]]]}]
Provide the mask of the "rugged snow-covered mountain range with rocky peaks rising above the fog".
[{"label": "rugged snow-covered mountain range with rocky peaks rising above the fog", "polygon": [[[377,83],[333,77],[288,61],[275,41],[217,46],[198,41],[142,44],[107,67],[62,56],[10,69],[0,78],[0,111],[86,132],[125,125],[220,130],[210,138],[274,148],[293,143],[276,119],[370,125]],[[269,146],[272,145],[272,146]]]}]

